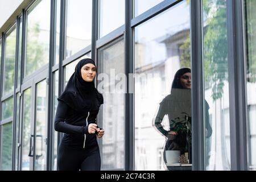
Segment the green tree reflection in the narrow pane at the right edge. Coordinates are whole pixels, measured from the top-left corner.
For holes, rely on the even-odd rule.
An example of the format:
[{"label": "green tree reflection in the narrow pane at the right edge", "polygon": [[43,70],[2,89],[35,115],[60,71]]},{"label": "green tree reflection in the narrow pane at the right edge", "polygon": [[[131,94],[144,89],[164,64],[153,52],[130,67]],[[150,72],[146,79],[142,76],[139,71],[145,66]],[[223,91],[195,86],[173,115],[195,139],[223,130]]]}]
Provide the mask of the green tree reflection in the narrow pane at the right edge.
[{"label": "green tree reflection in the narrow pane at the right edge", "polygon": [[256,34],[255,34],[255,27],[256,27],[256,1],[255,0],[247,0],[246,7],[247,7],[247,81],[249,82],[256,82]]}]

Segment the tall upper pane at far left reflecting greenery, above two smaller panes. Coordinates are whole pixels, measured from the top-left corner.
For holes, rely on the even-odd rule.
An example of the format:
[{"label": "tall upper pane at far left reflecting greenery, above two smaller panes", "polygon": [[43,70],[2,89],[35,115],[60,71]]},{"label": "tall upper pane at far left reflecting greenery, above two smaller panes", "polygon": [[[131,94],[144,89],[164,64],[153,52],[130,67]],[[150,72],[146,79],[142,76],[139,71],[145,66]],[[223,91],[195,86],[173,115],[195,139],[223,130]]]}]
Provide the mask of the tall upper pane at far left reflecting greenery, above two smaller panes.
[{"label": "tall upper pane at far left reflecting greenery, above two smaller panes", "polygon": [[14,89],[15,48],[16,28],[6,38],[6,53],[3,63],[3,96]]}]

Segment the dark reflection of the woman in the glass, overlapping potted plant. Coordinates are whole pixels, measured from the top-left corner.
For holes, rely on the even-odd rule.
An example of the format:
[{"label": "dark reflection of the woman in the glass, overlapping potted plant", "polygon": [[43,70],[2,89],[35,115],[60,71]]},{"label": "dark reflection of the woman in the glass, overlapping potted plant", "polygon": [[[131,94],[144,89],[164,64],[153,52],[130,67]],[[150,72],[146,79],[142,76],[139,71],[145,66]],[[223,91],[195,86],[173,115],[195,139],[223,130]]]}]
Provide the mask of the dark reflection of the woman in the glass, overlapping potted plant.
[{"label": "dark reflection of the woman in the glass, overlapping potted plant", "polygon": [[[164,130],[162,121],[168,115],[170,130]],[[179,69],[172,82],[171,94],[162,102],[155,118],[155,127],[167,137],[164,147],[164,162],[166,150],[179,150],[187,153],[191,162],[191,69]]]}]

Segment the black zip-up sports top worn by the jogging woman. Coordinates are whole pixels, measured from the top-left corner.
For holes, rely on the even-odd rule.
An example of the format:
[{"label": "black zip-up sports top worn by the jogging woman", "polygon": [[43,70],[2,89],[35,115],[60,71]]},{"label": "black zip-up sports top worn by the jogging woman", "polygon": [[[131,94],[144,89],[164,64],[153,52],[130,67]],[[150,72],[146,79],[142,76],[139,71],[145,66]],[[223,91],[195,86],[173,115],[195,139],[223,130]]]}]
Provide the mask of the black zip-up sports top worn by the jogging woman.
[{"label": "black zip-up sports top worn by the jogging woman", "polygon": [[100,102],[96,100],[96,110],[77,111],[59,100],[55,115],[55,130],[64,133],[63,143],[85,148],[97,144],[96,134],[88,133],[88,125],[96,123]]}]

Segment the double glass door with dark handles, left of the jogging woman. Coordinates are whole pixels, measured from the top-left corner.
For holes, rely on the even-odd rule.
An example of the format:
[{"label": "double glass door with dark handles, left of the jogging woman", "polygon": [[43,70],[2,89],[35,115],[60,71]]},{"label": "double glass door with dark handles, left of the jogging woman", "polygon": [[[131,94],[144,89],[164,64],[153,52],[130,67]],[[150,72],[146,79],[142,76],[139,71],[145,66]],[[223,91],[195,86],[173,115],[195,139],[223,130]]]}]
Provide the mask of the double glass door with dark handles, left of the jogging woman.
[{"label": "double glass door with dark handles, left of the jogging woman", "polygon": [[46,73],[22,86],[20,169],[44,171],[47,167],[47,81]]}]

